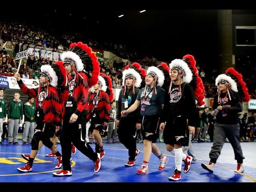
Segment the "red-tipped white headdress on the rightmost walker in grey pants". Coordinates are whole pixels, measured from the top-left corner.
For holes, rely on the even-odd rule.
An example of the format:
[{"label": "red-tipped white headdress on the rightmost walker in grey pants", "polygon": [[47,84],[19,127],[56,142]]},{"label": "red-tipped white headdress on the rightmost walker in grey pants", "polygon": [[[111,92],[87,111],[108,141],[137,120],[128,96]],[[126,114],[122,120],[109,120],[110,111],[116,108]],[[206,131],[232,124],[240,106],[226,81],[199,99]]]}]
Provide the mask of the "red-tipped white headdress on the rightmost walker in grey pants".
[{"label": "red-tipped white headdress on the rightmost walker in grey pants", "polygon": [[[216,80],[215,85],[218,87],[218,83],[224,83],[227,87],[227,94],[231,100],[230,92],[235,91],[241,97],[242,102],[248,102],[250,95],[246,83],[243,81],[242,74],[238,73],[234,68],[228,68],[226,74],[220,74]],[[220,102],[220,90],[218,89],[218,102]]]}]

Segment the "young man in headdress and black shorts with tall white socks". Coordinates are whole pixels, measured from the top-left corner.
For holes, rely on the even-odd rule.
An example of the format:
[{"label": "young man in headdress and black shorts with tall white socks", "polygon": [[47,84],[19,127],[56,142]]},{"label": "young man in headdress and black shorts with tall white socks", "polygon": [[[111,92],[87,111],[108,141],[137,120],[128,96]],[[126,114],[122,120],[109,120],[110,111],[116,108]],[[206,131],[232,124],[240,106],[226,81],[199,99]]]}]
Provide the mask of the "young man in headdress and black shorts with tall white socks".
[{"label": "young man in headdress and black shorts with tall white socks", "polygon": [[[185,162],[184,172],[190,170],[192,156],[182,152],[182,146],[188,146],[189,132],[195,133],[196,102],[194,91],[189,84],[193,72],[181,59],[170,63],[171,83],[166,92],[164,109],[160,119],[160,130],[164,129],[166,149],[175,156],[175,170],[169,180],[180,180],[182,160]],[[188,109],[188,110],[186,110]]]}]

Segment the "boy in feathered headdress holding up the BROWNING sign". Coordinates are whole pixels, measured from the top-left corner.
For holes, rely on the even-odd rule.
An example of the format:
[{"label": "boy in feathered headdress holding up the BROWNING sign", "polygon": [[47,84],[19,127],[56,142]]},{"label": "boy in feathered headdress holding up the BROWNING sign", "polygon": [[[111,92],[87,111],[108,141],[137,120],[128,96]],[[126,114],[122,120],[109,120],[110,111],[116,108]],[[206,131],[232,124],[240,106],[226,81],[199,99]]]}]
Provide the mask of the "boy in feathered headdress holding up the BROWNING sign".
[{"label": "boy in feathered headdress holding up the BROWNING sign", "polygon": [[31,141],[31,152],[28,162],[25,166],[17,168],[20,172],[32,171],[32,164],[38,152],[39,142],[48,147],[57,157],[58,165],[55,168],[62,166],[62,155],[54,144],[50,141],[50,135],[55,130],[60,130],[63,120],[63,102],[61,94],[63,91],[63,66],[56,63],[52,66],[44,65],[41,67],[40,86],[36,89],[29,89],[22,82],[20,74],[15,74],[20,89],[29,97],[36,98],[36,128]]}]

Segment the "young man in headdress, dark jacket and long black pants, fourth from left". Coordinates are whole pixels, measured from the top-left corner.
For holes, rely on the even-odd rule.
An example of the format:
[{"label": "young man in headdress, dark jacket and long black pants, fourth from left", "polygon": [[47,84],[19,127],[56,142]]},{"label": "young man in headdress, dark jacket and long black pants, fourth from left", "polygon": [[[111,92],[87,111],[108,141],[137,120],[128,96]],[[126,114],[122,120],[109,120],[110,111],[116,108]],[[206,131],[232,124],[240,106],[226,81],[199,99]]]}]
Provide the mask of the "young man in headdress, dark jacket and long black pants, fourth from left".
[{"label": "young man in headdress, dark jacket and long black pants, fourth from left", "polygon": [[141,116],[139,108],[126,117],[121,117],[121,111],[134,104],[140,91],[139,88],[143,83],[142,79],[145,79],[145,77],[146,71],[138,63],[133,63],[130,67],[127,65],[123,72],[123,88],[118,98],[118,120],[116,124],[119,140],[128,149],[129,160],[125,166],[134,166],[134,161],[140,153],[140,150],[136,148],[136,139],[137,130],[141,128]]}]

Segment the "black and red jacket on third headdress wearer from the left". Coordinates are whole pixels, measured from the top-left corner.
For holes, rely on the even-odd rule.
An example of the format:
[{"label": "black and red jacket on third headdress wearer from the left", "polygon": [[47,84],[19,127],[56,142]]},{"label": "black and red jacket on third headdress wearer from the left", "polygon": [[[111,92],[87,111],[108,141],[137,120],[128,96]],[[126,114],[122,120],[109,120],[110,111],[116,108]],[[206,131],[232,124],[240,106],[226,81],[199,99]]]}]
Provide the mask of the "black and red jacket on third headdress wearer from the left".
[{"label": "black and red jacket on third headdress wearer from the left", "polygon": [[87,106],[87,110],[89,112],[87,119],[92,119],[92,122],[108,123],[110,115],[110,102],[108,94],[106,94],[104,91],[100,91],[100,97],[97,105],[93,102],[96,95],[97,93],[90,92]]}]

